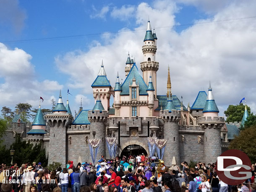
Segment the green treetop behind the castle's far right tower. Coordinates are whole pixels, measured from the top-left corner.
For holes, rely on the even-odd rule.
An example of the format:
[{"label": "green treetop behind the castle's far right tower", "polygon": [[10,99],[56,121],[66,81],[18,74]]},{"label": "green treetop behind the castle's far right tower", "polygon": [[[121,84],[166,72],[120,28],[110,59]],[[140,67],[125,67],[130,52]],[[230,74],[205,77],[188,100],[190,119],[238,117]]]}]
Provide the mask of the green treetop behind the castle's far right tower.
[{"label": "green treetop behind the castle's far right tower", "polygon": [[[229,105],[224,114],[227,117],[227,122],[240,122],[243,119],[245,106],[241,103],[239,105]],[[248,114],[251,114],[251,108],[247,106]]]}]

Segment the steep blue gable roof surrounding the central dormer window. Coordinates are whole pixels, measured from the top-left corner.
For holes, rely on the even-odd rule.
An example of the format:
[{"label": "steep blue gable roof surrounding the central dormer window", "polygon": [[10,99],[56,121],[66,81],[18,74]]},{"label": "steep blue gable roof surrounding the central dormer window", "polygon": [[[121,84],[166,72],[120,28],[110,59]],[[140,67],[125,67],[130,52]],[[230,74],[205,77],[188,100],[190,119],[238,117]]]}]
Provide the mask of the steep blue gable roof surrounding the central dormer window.
[{"label": "steep blue gable roof surrounding the central dormer window", "polygon": [[148,95],[146,89],[148,86],[146,85],[145,81],[141,77],[141,74],[138,72],[137,65],[134,63],[133,67],[131,68],[129,74],[127,75],[125,81],[121,85],[122,92],[120,95],[129,95],[129,86],[132,83],[133,77],[136,79],[136,84],[138,85],[138,93],[139,95]]}]

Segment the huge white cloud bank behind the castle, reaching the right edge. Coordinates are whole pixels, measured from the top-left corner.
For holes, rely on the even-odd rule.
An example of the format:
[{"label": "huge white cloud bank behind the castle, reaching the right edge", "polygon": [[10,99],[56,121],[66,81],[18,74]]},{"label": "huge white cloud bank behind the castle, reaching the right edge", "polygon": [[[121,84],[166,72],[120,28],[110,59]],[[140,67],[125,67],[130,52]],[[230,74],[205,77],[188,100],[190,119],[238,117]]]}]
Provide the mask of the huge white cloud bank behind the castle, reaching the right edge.
[{"label": "huge white cloud bank behind the castle, reaching the right edge", "polygon": [[[148,15],[153,26],[172,26],[178,8],[173,1],[159,0],[149,5],[141,3],[136,8],[138,28],[145,29]],[[253,16],[256,2],[236,1],[222,5],[208,19],[196,21],[218,21],[227,18]],[[183,103],[192,106],[201,87],[207,90],[211,80],[214,97],[220,115],[229,104],[238,104],[246,97],[252,110],[256,111],[256,23],[254,19],[198,24],[177,34],[174,29],[156,29],[157,93],[166,93],[167,66],[170,65],[172,93],[183,96]],[[122,30],[122,29],[121,29]],[[127,30],[127,29],[125,29]],[[91,93],[91,83],[97,76],[101,60],[104,61],[111,85],[119,71],[125,79],[124,67],[127,53],[136,57],[138,68],[142,61],[141,46],[145,31],[131,31],[102,36],[105,44],[91,45],[88,52],[76,50],[55,58],[63,73],[71,75],[72,84]],[[249,103],[249,102],[248,102]]]}]

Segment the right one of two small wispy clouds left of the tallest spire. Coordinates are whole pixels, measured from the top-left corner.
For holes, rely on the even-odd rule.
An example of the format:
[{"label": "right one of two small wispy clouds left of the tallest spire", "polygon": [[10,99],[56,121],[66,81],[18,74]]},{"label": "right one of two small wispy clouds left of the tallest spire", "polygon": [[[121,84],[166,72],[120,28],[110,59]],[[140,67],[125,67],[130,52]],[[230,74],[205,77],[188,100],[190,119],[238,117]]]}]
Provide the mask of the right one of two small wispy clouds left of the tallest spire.
[{"label": "right one of two small wispy clouds left of the tallest spire", "polygon": [[134,5],[123,5],[121,8],[114,7],[111,16],[118,18],[121,21],[126,21],[131,17],[134,17],[135,6]]}]

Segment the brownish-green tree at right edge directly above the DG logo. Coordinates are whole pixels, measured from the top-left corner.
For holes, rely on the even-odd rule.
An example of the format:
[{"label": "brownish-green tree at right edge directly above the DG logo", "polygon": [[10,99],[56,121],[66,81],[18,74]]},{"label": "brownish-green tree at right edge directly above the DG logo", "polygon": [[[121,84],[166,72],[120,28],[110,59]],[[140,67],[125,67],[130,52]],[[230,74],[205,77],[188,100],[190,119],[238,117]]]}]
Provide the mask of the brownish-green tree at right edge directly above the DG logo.
[{"label": "brownish-green tree at right edge directly above the DG logo", "polygon": [[229,145],[229,149],[242,150],[248,155],[251,162],[256,162],[256,126],[249,127],[240,132]]}]

